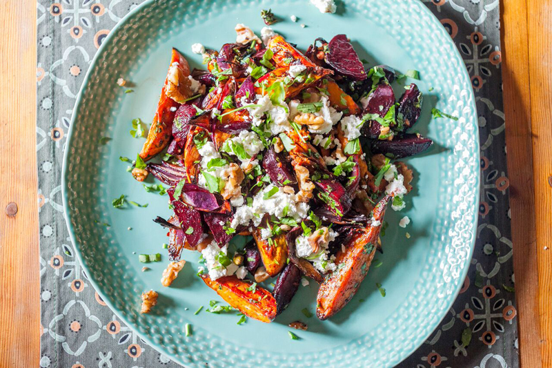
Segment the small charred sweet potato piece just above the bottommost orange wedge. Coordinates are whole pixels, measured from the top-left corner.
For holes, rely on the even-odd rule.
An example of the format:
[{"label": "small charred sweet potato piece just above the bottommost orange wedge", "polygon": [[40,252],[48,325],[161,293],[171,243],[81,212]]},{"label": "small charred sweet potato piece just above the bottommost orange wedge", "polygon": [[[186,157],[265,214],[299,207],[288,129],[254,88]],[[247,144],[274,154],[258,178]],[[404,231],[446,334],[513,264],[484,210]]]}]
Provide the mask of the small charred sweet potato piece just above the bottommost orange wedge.
[{"label": "small charred sweet potato piece just above the bottommost orange wedge", "polygon": [[257,242],[266,273],[275,276],[282,271],[288,260],[288,243],[284,233],[264,240],[261,236],[261,228],[253,229],[253,238]]}]

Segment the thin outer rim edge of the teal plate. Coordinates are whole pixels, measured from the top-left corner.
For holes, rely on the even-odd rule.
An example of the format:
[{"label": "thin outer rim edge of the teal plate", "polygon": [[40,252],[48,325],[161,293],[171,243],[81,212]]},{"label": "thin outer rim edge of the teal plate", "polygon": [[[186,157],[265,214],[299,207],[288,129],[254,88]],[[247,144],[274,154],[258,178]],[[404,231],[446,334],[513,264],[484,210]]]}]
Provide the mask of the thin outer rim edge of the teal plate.
[{"label": "thin outer rim edge of the teal plate", "polygon": [[[130,329],[132,329],[132,331],[134,333],[137,333],[139,338],[144,340],[148,345],[150,345],[150,347],[152,347],[156,351],[161,352],[162,354],[165,354],[168,358],[170,358],[171,361],[176,362],[179,365],[186,366],[184,362],[181,362],[179,360],[179,358],[177,358],[177,356],[175,356],[175,354],[172,354],[170,351],[168,351],[168,349],[164,349],[164,347],[162,347],[161,344],[159,344],[159,343],[155,342],[154,340],[152,340],[152,338],[150,338],[150,336],[148,336],[144,333],[141,333],[141,331],[139,331],[138,329],[135,329],[134,324],[132,322],[130,322],[130,320],[128,320],[128,318],[126,318],[126,316],[124,316],[124,313],[122,313],[119,308],[115,307],[115,305],[111,302],[111,300],[109,298],[107,298],[106,295],[103,293],[103,289],[101,289],[101,287],[99,287],[99,284],[97,284],[95,278],[92,277],[92,273],[90,272],[90,269],[89,269],[88,265],[86,264],[86,262],[83,258],[83,254],[82,254],[82,251],[81,251],[81,246],[76,241],[75,229],[72,226],[71,221],[70,221],[70,218],[71,218],[70,217],[70,211],[69,211],[69,207],[68,207],[68,204],[67,204],[67,202],[68,202],[68,187],[67,187],[66,175],[67,175],[67,166],[68,166],[67,163],[68,163],[68,158],[69,158],[69,155],[70,155],[70,153],[69,153],[70,149],[69,148],[70,148],[70,144],[72,142],[73,135],[74,135],[74,128],[73,127],[75,126],[75,122],[77,120],[76,112],[77,112],[77,109],[79,108],[79,106],[81,105],[83,95],[86,91],[86,88],[88,87],[88,85],[90,83],[90,75],[92,74],[93,70],[95,70],[95,68],[97,67],[98,60],[100,59],[101,55],[103,55],[103,52],[105,52],[105,49],[108,47],[108,44],[110,43],[111,39],[113,37],[115,37],[116,31],[119,31],[119,29],[121,27],[126,25],[126,23],[128,23],[128,21],[130,21],[130,19],[132,19],[132,17],[135,17],[136,14],[141,12],[141,10],[143,10],[144,8],[150,6],[152,3],[157,3],[158,1],[159,0],[145,0],[144,2],[140,3],[136,8],[130,10],[127,14],[125,14],[124,17],[122,17],[115,24],[115,26],[113,26],[111,28],[111,30],[108,33],[106,39],[103,40],[103,42],[99,46],[97,52],[95,53],[94,57],[92,58],[92,61],[90,61],[90,66],[88,67],[86,75],[84,76],[83,83],[81,84],[81,87],[79,88],[79,93],[77,94],[77,99],[75,99],[75,105],[73,106],[73,109],[72,109],[70,127],[68,129],[67,140],[66,140],[66,144],[65,144],[66,148],[63,151],[63,163],[62,163],[62,168],[61,168],[61,195],[62,195],[62,199],[63,199],[63,217],[65,219],[67,229],[68,229],[68,233],[69,233],[71,242],[74,246],[75,253],[77,255],[77,260],[81,264],[81,267],[83,267],[83,270],[86,271],[86,274],[90,276],[90,278],[87,278],[87,280],[90,282],[90,284],[92,284],[92,287],[94,288],[94,290],[99,294],[99,296],[103,300],[103,302],[105,302],[107,304],[107,306],[110,308],[112,313],[114,313],[115,316],[117,316],[117,318],[119,318],[122,322],[124,322],[125,325],[130,327]],[[173,0],[166,0],[166,1],[173,1]],[[344,3],[346,3],[347,0],[343,0],[343,1],[344,1]],[[446,41],[445,41],[446,43],[449,43],[449,45],[453,46],[452,50],[453,50],[453,53],[455,54],[455,57],[457,57],[458,60],[462,61],[462,66],[461,66],[462,76],[467,81],[469,81],[470,80],[469,72],[466,69],[466,66],[465,66],[465,63],[464,63],[464,58],[462,57],[462,55],[460,55],[460,50],[458,50],[457,46],[455,45],[453,39],[450,37],[449,33],[446,32],[444,27],[442,27],[442,23],[440,22],[440,20],[420,0],[411,0],[411,1],[414,1],[415,3],[418,3],[418,5],[420,5],[420,8],[422,9],[422,12],[425,12],[426,15],[428,15],[428,17],[430,17],[433,22],[437,22],[441,25],[441,27],[440,27],[440,32],[442,33],[441,37],[443,37],[443,39],[446,39]],[[313,9],[313,11],[314,11],[314,9]],[[470,88],[468,90],[468,93],[469,93],[470,104],[473,107],[473,110],[475,111],[475,114],[477,115],[477,104],[476,104],[476,100],[475,100],[475,92],[473,91],[473,86],[471,86],[471,84],[470,84]],[[477,143],[477,150],[475,151],[475,157],[474,158],[476,158],[477,161],[480,161],[481,142],[480,142],[479,129],[476,128],[474,130],[473,134],[475,135],[475,142]],[[480,191],[481,191],[481,186],[480,186],[481,185],[481,171],[480,170],[477,170],[477,172],[475,173],[475,184],[474,185],[475,185],[475,191],[473,193],[473,197],[475,198],[475,205],[474,205],[475,218],[474,218],[473,226],[472,226],[472,229],[471,229],[471,235],[472,235],[471,244],[469,244],[470,245],[469,255],[466,257],[466,260],[464,262],[464,267],[462,269],[462,274],[460,275],[460,278],[458,278],[459,280],[465,280],[466,279],[466,275],[469,272],[469,266],[470,266],[471,260],[473,258],[473,253],[475,251],[475,242],[476,242],[476,239],[477,239],[477,237],[476,237],[477,224],[479,223],[479,216],[477,215],[477,202],[479,202],[478,198],[480,197]],[[427,340],[427,338],[429,336],[431,336],[431,334],[435,331],[435,329],[437,329],[437,327],[439,327],[442,320],[444,320],[444,318],[446,317],[446,313],[451,309],[454,302],[457,300],[457,297],[460,294],[460,290],[462,289],[463,284],[464,284],[463,282],[459,282],[457,284],[456,289],[454,290],[453,293],[451,293],[451,298],[450,298],[451,302],[446,307],[446,309],[442,309],[442,316],[439,316],[439,318],[437,320],[435,320],[436,322],[434,322],[434,325],[431,328],[431,330],[428,330],[429,332],[427,333],[427,336],[425,336],[425,334],[424,334],[424,336],[423,336],[424,338],[420,338],[417,341],[417,343],[411,345],[410,349],[408,349],[408,347],[403,347],[402,351],[403,352],[407,351],[407,354],[404,354],[404,356],[402,356],[402,354],[399,354],[400,355],[400,358],[399,358],[400,360],[397,360],[395,362],[396,364],[399,364],[400,362],[402,362],[406,358],[408,358],[408,356],[411,356],[419,347],[421,347],[424,344],[424,341]]]}]

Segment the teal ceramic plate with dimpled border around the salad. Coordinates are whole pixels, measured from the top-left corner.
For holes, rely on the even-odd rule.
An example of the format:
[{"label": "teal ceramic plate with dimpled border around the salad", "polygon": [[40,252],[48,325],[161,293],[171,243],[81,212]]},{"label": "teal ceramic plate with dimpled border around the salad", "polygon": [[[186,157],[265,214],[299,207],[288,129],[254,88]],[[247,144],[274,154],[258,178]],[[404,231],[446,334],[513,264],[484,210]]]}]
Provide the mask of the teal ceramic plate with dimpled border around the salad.
[{"label": "teal ceramic plate with dimpled border around the salad", "polygon": [[[415,190],[405,210],[388,211],[392,225],[383,238],[385,253],[377,254],[382,266],[372,267],[355,298],[325,322],[301,313],[315,309],[314,282],[300,287],[270,324],[248,320],[237,325],[235,314],[194,315],[209,300],[220,300],[195,276],[199,253],[184,253],[188,264],[170,288],[160,282],[166,262],[148,264],[152,270],[141,272],[144,264],[137,254],[164,253],[166,231],[152,218],[168,217],[170,210],[166,196],[146,193],[119,160],[135,157],[144,142],[128,131],[136,117],[151,122],[172,46],[192,66],[201,66],[199,55],[190,52],[193,43],[218,49],[235,40],[236,23],[259,33],[264,26],[259,12],[268,7],[282,19],[275,30],[303,50],[317,37],[345,33],[372,65],[419,70],[426,98],[417,130],[435,141],[431,151],[408,159]],[[291,14],[299,17],[297,23],[289,20]],[[134,82],[135,92],[125,94],[116,84],[119,77]],[[460,119],[432,120],[434,106]],[[101,137],[111,140],[102,145]],[[68,227],[93,286],[139,336],[190,367],[207,362],[210,367],[397,364],[437,327],[464,282],[478,191],[479,138],[469,76],[449,35],[417,0],[343,1],[337,14],[322,14],[308,0],[146,1],[110,32],[92,62],[73,113],[63,166]],[[111,201],[121,194],[149,206],[114,209]],[[404,215],[412,219],[406,229],[397,226]],[[386,289],[384,298],[376,283]],[[149,289],[159,291],[159,304],[141,315],[140,293]],[[295,320],[308,324],[308,331],[295,331],[300,340],[288,336],[288,323]],[[185,337],[186,323],[193,325],[193,336]]]}]

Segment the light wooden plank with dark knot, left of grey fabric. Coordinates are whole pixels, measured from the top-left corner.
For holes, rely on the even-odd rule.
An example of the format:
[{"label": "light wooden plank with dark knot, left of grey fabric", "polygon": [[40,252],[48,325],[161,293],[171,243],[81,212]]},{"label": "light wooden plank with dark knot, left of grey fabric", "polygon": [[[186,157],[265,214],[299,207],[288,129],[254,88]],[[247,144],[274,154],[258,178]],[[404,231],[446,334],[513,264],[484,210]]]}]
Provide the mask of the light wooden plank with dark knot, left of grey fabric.
[{"label": "light wooden plank with dark knot, left of grey fabric", "polygon": [[[37,7],[4,0],[0,14],[0,367],[39,367]],[[10,202],[13,216],[6,214]]]}]

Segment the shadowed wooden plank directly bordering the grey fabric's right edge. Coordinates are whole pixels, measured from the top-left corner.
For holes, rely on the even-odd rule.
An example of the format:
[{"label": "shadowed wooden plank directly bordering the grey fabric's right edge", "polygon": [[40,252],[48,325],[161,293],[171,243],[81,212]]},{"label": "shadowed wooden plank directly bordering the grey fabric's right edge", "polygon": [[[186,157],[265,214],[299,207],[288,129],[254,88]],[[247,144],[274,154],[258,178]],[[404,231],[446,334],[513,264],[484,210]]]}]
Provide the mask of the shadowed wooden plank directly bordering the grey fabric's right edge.
[{"label": "shadowed wooden plank directly bordering the grey fabric's right edge", "polygon": [[513,265],[522,367],[542,367],[531,148],[526,0],[502,1],[502,77],[510,180]]}]

